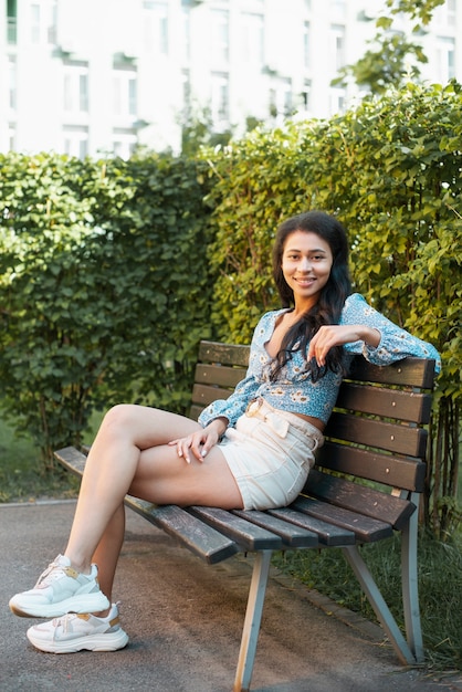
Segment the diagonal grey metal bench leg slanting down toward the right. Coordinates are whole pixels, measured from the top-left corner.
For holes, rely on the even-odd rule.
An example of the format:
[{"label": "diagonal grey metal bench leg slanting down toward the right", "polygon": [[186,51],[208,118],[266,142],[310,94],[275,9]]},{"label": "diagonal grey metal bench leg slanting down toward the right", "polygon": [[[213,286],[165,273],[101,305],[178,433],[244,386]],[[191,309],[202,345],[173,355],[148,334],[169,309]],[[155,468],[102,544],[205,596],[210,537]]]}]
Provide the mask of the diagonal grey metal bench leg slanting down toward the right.
[{"label": "diagonal grey metal bench leg slanting down toward the right", "polygon": [[391,615],[390,609],[388,608],[377,584],[375,583],[368,566],[360,556],[357,546],[345,546],[342,549],[348,563],[351,565],[351,568],[359,584],[361,585],[364,593],[369,599],[369,602],[372,606],[374,611],[380,621],[380,625],[382,626],[391,644],[393,646],[399,660],[405,665],[413,665],[416,663],[416,657],[408,647],[408,643],[402,636],[401,630],[396,623],[396,620]]}]

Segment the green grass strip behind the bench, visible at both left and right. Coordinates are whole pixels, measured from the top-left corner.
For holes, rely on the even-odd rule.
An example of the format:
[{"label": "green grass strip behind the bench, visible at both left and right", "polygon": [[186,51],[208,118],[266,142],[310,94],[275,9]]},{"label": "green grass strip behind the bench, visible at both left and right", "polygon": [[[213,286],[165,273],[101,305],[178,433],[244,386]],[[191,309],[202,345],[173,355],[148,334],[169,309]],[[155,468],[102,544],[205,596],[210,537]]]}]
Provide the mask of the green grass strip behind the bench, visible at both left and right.
[{"label": "green grass strip behind the bench, visible at both left and right", "polygon": [[[95,420],[95,426],[97,421]],[[78,480],[65,471],[43,473],[30,439],[17,438],[0,419],[0,502],[74,497]],[[361,548],[398,622],[399,537]],[[375,620],[375,614],[339,549],[286,552],[275,565],[339,605]],[[422,535],[419,543],[419,591],[427,665],[440,672],[462,670],[462,538],[452,544]],[[397,597],[398,595],[398,597]]]}]

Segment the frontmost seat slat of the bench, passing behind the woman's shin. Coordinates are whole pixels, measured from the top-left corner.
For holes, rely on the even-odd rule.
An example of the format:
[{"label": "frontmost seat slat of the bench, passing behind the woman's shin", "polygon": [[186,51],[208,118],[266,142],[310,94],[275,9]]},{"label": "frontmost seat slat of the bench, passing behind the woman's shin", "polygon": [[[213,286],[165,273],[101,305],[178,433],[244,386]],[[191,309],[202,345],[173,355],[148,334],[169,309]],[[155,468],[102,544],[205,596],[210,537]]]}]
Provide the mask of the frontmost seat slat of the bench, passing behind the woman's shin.
[{"label": "frontmost seat slat of the bench, passing behind the woman's shin", "polygon": [[[55,458],[75,475],[82,476],[86,457],[74,447],[54,452]],[[188,547],[192,553],[209,564],[219,563],[238,553],[235,543],[228,536],[203,524],[188,512],[176,505],[155,505],[137,497],[126,495],[125,504],[162,528],[167,534]]]}]

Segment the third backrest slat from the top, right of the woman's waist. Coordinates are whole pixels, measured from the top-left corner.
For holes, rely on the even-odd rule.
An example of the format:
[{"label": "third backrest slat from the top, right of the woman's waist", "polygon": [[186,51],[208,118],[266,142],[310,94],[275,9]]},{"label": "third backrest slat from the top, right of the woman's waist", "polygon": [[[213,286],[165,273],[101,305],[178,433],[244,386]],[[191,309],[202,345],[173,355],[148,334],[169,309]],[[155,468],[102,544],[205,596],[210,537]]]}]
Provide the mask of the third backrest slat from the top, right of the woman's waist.
[{"label": "third backrest slat from the top, right of the woman's waist", "polygon": [[330,416],[324,434],[408,457],[422,458],[427,448],[427,430],[337,411]]}]

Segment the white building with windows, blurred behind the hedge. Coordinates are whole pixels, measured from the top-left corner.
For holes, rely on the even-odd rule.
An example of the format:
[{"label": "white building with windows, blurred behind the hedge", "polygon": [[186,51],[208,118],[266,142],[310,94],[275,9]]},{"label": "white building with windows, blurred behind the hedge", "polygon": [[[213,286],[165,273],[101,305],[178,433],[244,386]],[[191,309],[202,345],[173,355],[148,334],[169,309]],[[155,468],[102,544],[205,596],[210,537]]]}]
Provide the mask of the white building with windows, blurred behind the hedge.
[{"label": "white building with windows, blurred behind the hedge", "polygon": [[[137,144],[178,151],[192,106],[210,109],[216,132],[237,134],[248,117],[269,125],[294,112],[329,117],[358,95],[330,81],[364,55],[382,6],[3,0],[0,151],[126,157]],[[426,81],[462,78],[461,6],[447,0],[421,38]]]}]

